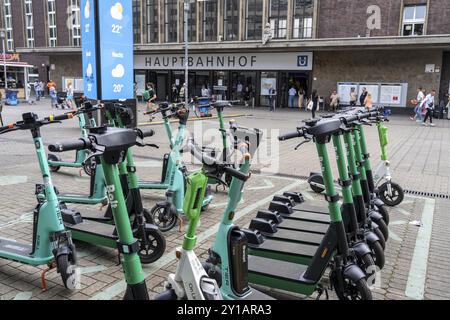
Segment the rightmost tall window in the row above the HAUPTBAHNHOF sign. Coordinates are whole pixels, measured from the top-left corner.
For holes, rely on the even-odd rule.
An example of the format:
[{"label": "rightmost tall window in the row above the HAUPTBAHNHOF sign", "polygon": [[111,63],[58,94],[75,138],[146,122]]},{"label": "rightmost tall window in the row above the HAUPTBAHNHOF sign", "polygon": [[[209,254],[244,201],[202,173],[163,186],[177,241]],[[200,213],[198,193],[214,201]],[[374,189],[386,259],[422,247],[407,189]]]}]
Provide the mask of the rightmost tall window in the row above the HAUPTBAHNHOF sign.
[{"label": "rightmost tall window in the row above the HAUPTBAHNHOF sign", "polygon": [[312,0],[294,1],[293,38],[312,38],[313,6]]}]

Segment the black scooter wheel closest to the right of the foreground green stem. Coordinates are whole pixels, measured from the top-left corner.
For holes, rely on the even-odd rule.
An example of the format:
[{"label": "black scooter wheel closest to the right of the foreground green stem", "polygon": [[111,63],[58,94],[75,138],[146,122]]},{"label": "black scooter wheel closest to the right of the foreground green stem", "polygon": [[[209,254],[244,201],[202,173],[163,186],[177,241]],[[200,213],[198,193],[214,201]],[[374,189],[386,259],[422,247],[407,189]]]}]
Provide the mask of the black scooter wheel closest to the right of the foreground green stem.
[{"label": "black scooter wheel closest to the right of the foreground green stem", "polygon": [[166,251],[166,239],[159,230],[145,230],[145,239],[139,239],[139,258],[143,264],[153,263]]}]

